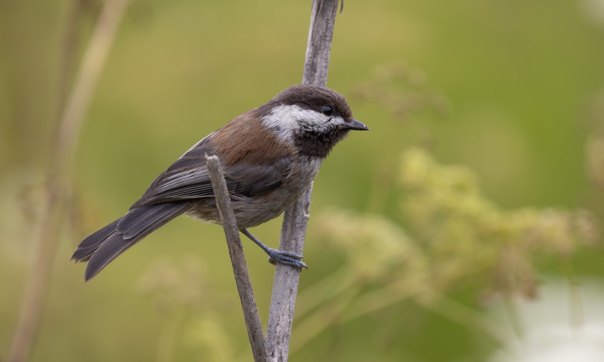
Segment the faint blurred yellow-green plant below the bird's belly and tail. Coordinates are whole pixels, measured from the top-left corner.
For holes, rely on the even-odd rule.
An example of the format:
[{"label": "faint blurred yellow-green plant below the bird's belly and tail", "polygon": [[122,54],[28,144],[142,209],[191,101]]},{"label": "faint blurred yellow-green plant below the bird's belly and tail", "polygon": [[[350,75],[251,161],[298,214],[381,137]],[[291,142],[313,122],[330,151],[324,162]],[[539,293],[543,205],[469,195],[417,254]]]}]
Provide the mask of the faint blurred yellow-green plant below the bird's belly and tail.
[{"label": "faint blurred yellow-green plant below the bird's belly and tail", "polygon": [[183,349],[206,355],[210,361],[237,360],[221,316],[239,305],[219,290],[207,293],[211,287],[204,265],[191,255],[176,264],[160,259],[141,278],[141,292],[155,300],[158,311],[167,316],[156,344],[158,361],[178,360]]}]

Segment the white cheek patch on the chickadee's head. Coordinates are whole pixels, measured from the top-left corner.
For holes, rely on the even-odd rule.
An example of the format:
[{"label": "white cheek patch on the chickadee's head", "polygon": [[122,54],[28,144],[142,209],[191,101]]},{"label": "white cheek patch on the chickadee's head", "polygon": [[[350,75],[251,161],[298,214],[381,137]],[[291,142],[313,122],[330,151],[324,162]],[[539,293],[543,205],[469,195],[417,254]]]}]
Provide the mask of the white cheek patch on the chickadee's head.
[{"label": "white cheek patch on the chickadee's head", "polygon": [[[262,123],[274,130],[279,138],[290,139],[292,133],[300,129],[301,122],[310,125],[313,129],[320,130],[327,126],[329,118],[329,116],[314,110],[281,104],[274,107],[272,112],[262,119]],[[341,117],[338,118],[341,119]]]}]

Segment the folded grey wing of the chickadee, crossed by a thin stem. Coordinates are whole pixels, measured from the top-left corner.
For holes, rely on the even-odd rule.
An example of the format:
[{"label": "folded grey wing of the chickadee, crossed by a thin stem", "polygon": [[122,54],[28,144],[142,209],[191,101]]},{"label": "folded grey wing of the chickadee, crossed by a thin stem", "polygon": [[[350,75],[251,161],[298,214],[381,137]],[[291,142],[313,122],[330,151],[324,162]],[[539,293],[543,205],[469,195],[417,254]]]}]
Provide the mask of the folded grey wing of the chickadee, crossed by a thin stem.
[{"label": "folded grey wing of the chickadee, crossed by a thin stem", "polygon": [[[132,208],[156,203],[214,197],[208,175],[207,156],[213,156],[211,135],[191,147],[151,186]],[[281,157],[266,164],[223,165],[226,186],[231,194],[248,197],[266,194],[283,183],[289,174],[290,157]]]}]

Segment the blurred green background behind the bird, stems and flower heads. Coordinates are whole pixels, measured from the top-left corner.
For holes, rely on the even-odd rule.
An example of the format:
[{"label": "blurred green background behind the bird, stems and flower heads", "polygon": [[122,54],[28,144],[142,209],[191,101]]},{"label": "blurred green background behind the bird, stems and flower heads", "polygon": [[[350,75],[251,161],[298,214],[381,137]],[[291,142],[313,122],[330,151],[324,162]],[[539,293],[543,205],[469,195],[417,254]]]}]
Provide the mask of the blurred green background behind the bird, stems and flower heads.
[{"label": "blurred green background behind the bird, stems and flower heads", "polygon": [[[70,82],[103,4],[76,3]],[[2,357],[37,247],[72,6],[0,1]],[[310,1],[130,4],[86,112],[75,201],[32,361],[251,360],[220,227],[178,218],[87,284],[84,265],[69,257],[191,145],[301,81],[309,15]],[[503,210],[586,209],[602,220],[603,40],[601,0],[346,1],[336,17],[327,85],[348,98],[371,131],[339,144],[315,181],[304,251],[310,268],[301,275],[298,308],[318,314],[298,335],[294,327],[292,361],[484,361],[501,349],[466,314],[455,320],[417,300],[339,320],[345,314],[338,303],[362,306],[355,298],[385,277],[326,296],[338,285],[333,275],[350,269],[342,267],[346,254],[325,241],[320,221],[338,208],[412,228],[400,220],[406,191],[395,179],[400,154],[416,146],[441,164],[472,170],[484,197]],[[273,247],[279,233],[280,219],[254,230]],[[266,326],[274,267],[244,243]],[[539,283],[604,281],[600,246],[572,251],[532,263]],[[321,287],[328,276],[335,284]],[[484,284],[461,281],[442,293],[472,316],[490,318],[500,300],[522,297],[485,298]],[[543,302],[537,288],[534,303]]]}]

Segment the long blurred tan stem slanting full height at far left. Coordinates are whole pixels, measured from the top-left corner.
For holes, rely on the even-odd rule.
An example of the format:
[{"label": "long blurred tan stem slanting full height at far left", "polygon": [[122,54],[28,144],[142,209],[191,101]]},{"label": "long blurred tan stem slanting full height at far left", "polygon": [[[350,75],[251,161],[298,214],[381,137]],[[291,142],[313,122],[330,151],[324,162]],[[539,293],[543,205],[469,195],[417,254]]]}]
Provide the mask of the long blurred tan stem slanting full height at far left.
[{"label": "long blurred tan stem slanting full height at far left", "polygon": [[[65,112],[60,117],[56,148],[50,162],[45,212],[37,233],[36,251],[31,264],[21,311],[8,355],[9,362],[27,360],[39,326],[42,306],[47,296],[53,268],[54,254],[59,243],[60,227],[69,198],[72,160],[83,116],[88,108],[92,90],[109,52],[115,31],[128,0],[108,0],[97,19],[91,40],[86,48],[82,68],[77,74],[74,89]],[[62,105],[60,105],[62,107]]]}]

